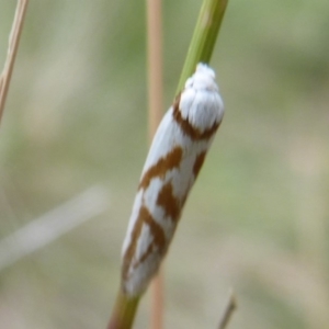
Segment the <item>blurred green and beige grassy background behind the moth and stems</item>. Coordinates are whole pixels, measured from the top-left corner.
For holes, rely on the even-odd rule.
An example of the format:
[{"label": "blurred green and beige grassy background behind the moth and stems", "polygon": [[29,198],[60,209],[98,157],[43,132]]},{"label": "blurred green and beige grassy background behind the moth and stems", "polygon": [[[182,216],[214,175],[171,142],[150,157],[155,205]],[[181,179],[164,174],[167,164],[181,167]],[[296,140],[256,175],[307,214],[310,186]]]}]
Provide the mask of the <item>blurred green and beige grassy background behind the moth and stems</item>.
[{"label": "blurred green and beige grassy background behind the moth and stems", "polygon": [[[166,109],[201,2],[163,1]],[[0,4],[1,65],[14,7]],[[1,328],[105,327],[147,152],[145,21],[145,1],[30,1],[0,132],[0,238],[90,186],[106,207],[0,269]],[[216,328],[232,287],[231,329],[327,329],[329,2],[230,0],[212,66],[226,114],[166,260],[166,328]]]}]

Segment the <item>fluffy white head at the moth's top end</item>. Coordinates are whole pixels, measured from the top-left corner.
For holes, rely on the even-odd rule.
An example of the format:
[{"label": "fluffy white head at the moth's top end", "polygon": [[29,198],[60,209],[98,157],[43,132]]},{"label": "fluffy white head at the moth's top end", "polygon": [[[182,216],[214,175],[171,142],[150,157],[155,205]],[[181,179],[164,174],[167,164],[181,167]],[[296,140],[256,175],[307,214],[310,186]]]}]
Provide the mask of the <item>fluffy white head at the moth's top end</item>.
[{"label": "fluffy white head at the moth's top end", "polygon": [[193,88],[195,90],[218,91],[215,78],[214,70],[206,64],[200,63],[196,66],[194,75],[188,79],[185,89]]}]

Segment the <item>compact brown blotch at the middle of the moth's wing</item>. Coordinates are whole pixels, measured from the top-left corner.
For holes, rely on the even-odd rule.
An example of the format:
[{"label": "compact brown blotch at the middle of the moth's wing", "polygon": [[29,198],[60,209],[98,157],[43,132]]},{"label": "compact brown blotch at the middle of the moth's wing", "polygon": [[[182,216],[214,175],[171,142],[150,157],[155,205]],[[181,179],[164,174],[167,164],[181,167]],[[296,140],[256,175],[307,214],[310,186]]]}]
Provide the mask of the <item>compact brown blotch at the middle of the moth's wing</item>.
[{"label": "compact brown blotch at the middle of the moth's wing", "polygon": [[158,195],[157,205],[164,209],[166,216],[170,216],[173,222],[178,222],[181,214],[181,205],[172,192],[172,184],[164,184]]}]

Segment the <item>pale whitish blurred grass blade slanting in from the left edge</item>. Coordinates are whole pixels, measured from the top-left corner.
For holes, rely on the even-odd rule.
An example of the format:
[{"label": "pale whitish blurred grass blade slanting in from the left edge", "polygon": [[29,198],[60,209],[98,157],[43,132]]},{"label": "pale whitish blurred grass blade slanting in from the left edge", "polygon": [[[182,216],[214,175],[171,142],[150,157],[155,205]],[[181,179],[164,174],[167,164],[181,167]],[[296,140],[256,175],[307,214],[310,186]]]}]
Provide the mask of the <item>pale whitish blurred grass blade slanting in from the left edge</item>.
[{"label": "pale whitish blurred grass blade slanting in from the left edge", "polygon": [[103,213],[107,198],[102,186],[92,186],[0,240],[0,272]]}]

